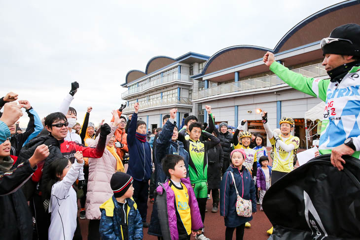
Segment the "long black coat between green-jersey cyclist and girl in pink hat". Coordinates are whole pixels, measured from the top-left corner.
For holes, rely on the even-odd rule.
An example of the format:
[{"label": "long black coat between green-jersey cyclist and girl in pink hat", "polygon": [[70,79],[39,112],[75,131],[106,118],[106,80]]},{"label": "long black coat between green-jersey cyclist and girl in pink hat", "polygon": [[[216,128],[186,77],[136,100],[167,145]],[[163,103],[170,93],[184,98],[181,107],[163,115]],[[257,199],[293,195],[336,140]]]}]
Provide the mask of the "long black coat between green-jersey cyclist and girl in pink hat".
[{"label": "long black coat between green-jersey cyclist and girl in pink hat", "polygon": [[208,188],[218,189],[221,182],[221,168],[224,161],[224,152],[217,144],[208,150]]}]

